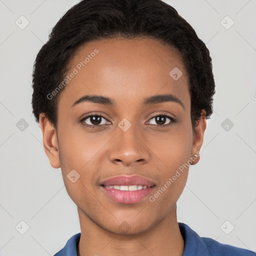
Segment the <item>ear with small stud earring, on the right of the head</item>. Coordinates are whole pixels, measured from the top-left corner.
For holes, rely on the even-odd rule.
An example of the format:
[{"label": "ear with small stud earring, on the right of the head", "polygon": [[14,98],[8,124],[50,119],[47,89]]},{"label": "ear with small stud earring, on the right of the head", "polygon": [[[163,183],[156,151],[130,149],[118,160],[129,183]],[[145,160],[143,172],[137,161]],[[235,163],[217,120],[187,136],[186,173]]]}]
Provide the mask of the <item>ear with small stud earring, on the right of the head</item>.
[{"label": "ear with small stud earring, on the right of the head", "polygon": [[[191,165],[196,164],[200,159],[199,150],[202,146],[205,129],[206,129],[206,112],[204,109],[202,109],[201,116],[199,120],[196,121],[196,124],[194,127],[193,144],[191,148],[191,157],[193,160]],[[193,157],[193,154],[197,154],[198,157],[197,158]]]}]

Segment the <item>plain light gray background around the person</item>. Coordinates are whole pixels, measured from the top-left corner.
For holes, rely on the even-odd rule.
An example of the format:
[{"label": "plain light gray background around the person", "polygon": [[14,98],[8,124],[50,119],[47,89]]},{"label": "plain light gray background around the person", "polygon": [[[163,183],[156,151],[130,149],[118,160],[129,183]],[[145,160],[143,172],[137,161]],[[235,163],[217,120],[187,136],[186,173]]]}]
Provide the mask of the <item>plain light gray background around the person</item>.
[{"label": "plain light gray background around the person", "polygon": [[[60,169],[49,164],[30,105],[35,56],[76,2],[0,0],[0,255],[52,255],[80,231],[76,205]],[[166,2],[206,43],[216,82],[214,113],[177,202],[178,221],[200,236],[256,251],[256,2]],[[25,24],[21,15],[29,22],[23,29],[15,23]],[[22,222],[15,228],[20,221],[29,226],[24,234]]]}]

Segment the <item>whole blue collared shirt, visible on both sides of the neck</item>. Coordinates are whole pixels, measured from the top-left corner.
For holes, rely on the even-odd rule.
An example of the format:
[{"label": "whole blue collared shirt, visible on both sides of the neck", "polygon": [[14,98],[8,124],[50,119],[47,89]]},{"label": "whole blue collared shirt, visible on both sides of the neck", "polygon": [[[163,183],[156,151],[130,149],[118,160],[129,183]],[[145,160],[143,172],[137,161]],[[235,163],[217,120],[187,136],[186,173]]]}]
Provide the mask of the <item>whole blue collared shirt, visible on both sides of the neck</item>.
[{"label": "whole blue collared shirt, visible on both sides of the neck", "polygon": [[[223,244],[207,237],[200,237],[188,225],[178,222],[180,233],[184,239],[184,252],[182,256],[256,256],[256,253]],[[65,246],[53,256],[77,256],[77,245],[81,233],[74,234]]]}]

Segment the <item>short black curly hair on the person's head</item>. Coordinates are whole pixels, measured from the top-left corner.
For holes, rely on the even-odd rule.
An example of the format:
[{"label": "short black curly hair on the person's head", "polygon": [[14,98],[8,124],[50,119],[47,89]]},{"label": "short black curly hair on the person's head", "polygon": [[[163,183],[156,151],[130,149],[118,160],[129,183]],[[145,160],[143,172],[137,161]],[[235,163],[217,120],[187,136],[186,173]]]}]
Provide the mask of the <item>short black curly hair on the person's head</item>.
[{"label": "short black curly hair on the person's head", "polygon": [[206,118],[210,117],[215,83],[209,50],[172,6],[162,0],[82,0],[61,16],[34,61],[31,103],[37,122],[43,112],[56,127],[63,89],[51,99],[47,95],[63,81],[79,46],[93,39],[120,36],[146,36],[174,46],[189,76],[193,131],[202,109]]}]

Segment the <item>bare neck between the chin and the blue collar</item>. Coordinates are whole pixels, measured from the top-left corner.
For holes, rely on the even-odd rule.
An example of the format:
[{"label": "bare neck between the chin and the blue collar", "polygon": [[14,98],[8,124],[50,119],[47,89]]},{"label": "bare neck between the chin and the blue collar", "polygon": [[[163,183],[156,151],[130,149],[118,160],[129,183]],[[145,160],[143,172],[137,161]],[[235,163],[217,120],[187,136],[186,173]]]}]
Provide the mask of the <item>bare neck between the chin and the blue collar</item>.
[{"label": "bare neck between the chin and the blue collar", "polygon": [[170,213],[147,231],[137,234],[115,234],[98,226],[78,208],[81,237],[78,256],[91,255],[171,255],[182,256],[184,240],[180,233],[176,204]]}]

